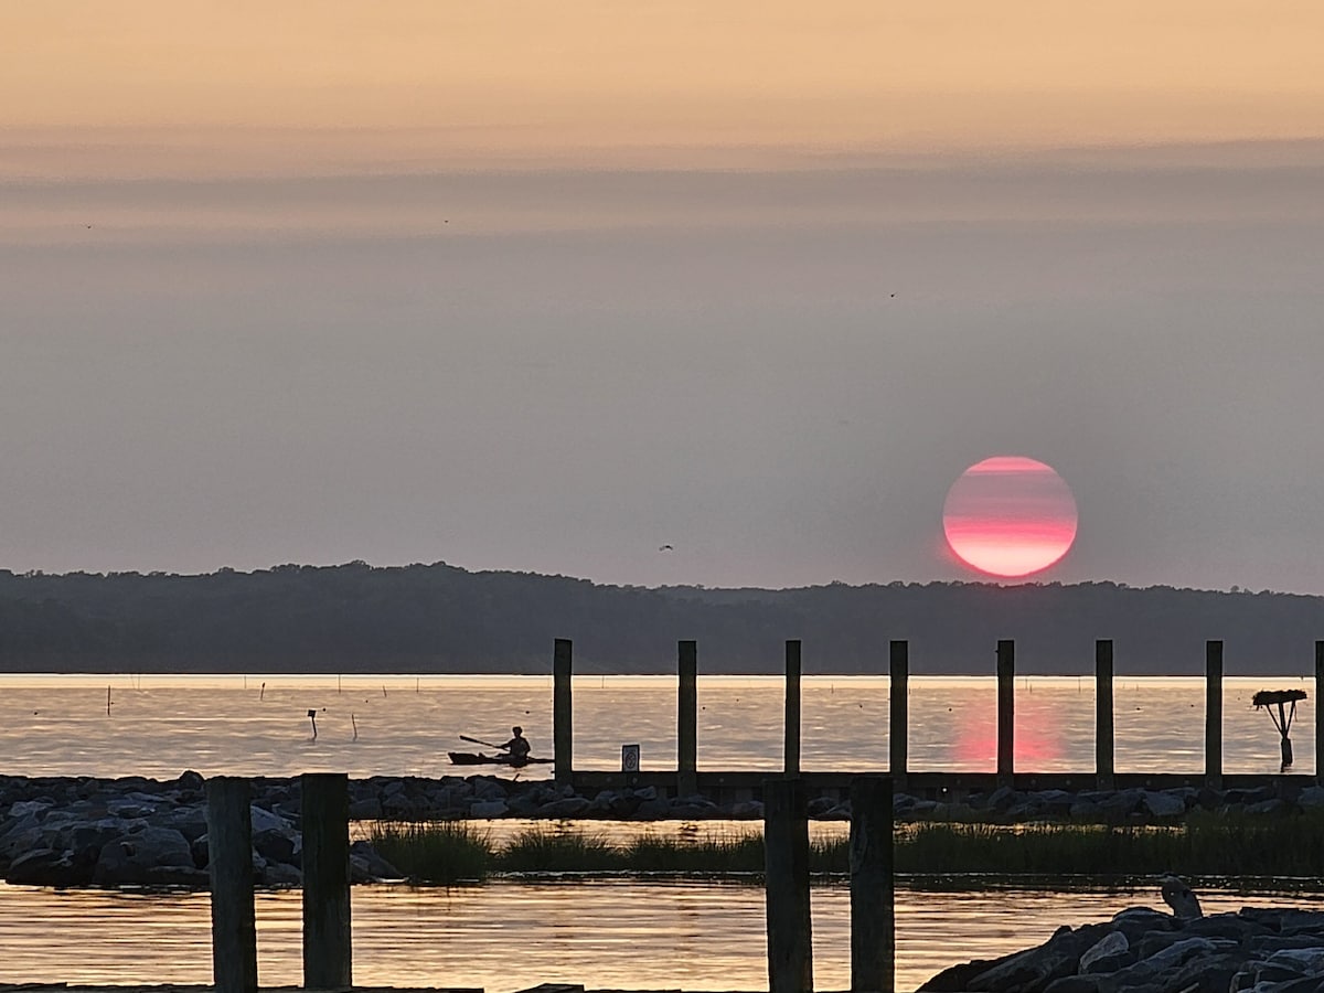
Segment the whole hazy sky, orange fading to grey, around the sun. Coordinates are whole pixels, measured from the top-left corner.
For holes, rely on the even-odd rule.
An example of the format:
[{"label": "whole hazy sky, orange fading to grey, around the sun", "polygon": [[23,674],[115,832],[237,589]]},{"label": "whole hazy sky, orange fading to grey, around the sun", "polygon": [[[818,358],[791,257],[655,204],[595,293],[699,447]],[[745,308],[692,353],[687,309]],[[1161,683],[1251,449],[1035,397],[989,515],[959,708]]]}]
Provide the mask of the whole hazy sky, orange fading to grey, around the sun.
[{"label": "whole hazy sky, orange fading to grey, around the sun", "polygon": [[1324,593],[1324,7],[1087,7],[7,4],[0,568]]}]

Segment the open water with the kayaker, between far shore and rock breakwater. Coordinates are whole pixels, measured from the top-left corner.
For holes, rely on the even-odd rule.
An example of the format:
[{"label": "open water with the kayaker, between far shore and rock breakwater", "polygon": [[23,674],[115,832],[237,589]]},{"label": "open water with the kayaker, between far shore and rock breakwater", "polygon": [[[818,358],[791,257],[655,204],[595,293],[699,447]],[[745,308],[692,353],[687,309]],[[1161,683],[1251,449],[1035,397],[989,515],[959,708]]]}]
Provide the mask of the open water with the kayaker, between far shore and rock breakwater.
[{"label": "open water with the kayaker, between far shore and rock breakwater", "polygon": [[[779,768],[781,687],[776,677],[700,677],[699,768]],[[1313,679],[1280,677],[1225,681],[1225,772],[1278,771],[1278,735],[1250,698],[1291,687],[1311,692],[1294,724],[1295,771],[1315,771]],[[1201,678],[1117,679],[1117,769],[1200,772],[1204,694]],[[577,678],[573,698],[576,768],[620,768],[625,743],[641,745],[645,769],[675,768],[674,678]],[[992,677],[912,677],[911,768],[996,768],[994,707]],[[503,741],[518,723],[535,755],[549,755],[551,711],[549,677],[0,675],[0,771],[441,776],[455,772],[448,751],[475,748],[461,733]],[[802,768],[884,769],[887,712],[886,678],[806,678]],[[1017,769],[1094,768],[1091,678],[1018,678],[1016,724]]]}]

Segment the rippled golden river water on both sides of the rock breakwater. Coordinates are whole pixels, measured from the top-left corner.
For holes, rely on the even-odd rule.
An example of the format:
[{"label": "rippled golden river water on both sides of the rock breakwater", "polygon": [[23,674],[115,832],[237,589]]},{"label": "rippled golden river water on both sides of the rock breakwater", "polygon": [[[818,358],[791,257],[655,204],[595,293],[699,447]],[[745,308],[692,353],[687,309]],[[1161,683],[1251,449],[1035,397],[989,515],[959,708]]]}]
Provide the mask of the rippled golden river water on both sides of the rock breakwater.
[{"label": "rippled golden river water on both sides of the rock breakwater", "polygon": [[[1276,772],[1278,735],[1254,711],[1260,688],[1300,677],[1227,679],[1223,768]],[[1119,771],[1198,772],[1204,681],[1119,678]],[[642,768],[675,765],[675,681],[576,678],[575,764],[618,768],[637,743]],[[1313,696],[1313,692],[1312,692]],[[109,702],[109,707],[107,707]],[[992,678],[912,677],[912,769],[993,769]],[[782,685],[772,677],[699,681],[699,767],[777,769]],[[1088,678],[1018,678],[1017,768],[1090,771]],[[307,711],[316,714],[314,720]],[[888,681],[804,681],[802,768],[886,769]],[[519,723],[535,755],[551,744],[551,679],[542,677],[0,675],[0,772],[175,777],[441,776],[470,749],[458,735],[503,740]],[[1313,699],[1294,726],[1296,772],[1313,771]],[[526,771],[527,775],[539,775]],[[494,825],[495,826],[495,825]],[[838,825],[839,828],[839,825]],[[1201,892],[1206,911],[1301,904],[1294,896]],[[301,981],[301,896],[258,896],[263,985]],[[548,981],[598,989],[767,989],[763,890],[735,882],[498,879],[473,887],[354,890],[357,984],[482,986]],[[1045,940],[1062,923],[1102,920],[1157,892],[1103,890],[922,892],[896,902],[898,989],[947,965]],[[816,886],[820,989],[849,988],[849,892]],[[0,884],[0,982],[208,982],[205,894],[60,892]]]}]

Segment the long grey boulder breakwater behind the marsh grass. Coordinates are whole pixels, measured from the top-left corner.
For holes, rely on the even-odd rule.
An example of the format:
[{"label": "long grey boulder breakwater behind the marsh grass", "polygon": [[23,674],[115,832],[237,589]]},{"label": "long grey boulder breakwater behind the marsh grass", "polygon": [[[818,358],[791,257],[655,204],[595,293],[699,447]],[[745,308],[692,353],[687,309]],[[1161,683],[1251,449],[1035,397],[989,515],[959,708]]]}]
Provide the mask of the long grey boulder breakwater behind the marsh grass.
[{"label": "long grey boulder breakwater behind the marsh grass", "polygon": [[[1324,788],[1292,798],[1272,785],[1259,790],[1127,789],[1115,792],[1017,792],[998,789],[961,802],[895,797],[898,820],[1014,824],[1173,824],[1204,809],[1251,817],[1282,817],[1324,808]],[[816,797],[809,814],[846,820],[849,801]],[[298,886],[302,875],[299,781],[253,780],[253,849],[260,886]],[[702,796],[667,797],[653,786],[602,790],[587,797],[548,780],[495,776],[420,779],[373,776],[350,781],[350,817],[373,820],[760,820],[763,804],[718,805]],[[357,882],[399,878],[367,842],[351,851]],[[205,782],[196,772],[176,780],[131,776],[0,776],[0,876],[38,886],[183,886],[204,888],[207,878]]]}]

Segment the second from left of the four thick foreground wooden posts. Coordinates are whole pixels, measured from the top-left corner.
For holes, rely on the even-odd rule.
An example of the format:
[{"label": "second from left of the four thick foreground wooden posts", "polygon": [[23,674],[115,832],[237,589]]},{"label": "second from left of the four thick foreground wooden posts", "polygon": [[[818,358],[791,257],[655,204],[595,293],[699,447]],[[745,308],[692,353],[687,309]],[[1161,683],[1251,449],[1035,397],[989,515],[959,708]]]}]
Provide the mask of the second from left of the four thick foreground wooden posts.
[{"label": "second from left of the four thick foreground wooden posts", "polygon": [[350,937],[350,777],[299,777],[303,824],[303,986],[352,985]]}]

